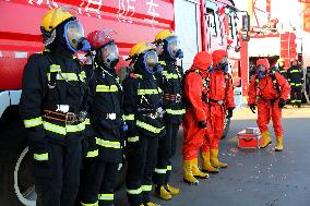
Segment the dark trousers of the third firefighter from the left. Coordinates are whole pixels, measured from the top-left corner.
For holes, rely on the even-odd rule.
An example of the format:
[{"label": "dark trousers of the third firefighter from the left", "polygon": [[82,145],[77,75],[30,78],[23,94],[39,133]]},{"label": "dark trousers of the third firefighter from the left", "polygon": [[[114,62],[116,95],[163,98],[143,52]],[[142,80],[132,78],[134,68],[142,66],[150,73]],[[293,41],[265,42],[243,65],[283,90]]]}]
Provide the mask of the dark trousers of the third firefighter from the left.
[{"label": "dark trousers of the third firefighter from the left", "polygon": [[158,138],[140,136],[126,147],[128,171],[126,178],[128,202],[131,206],[148,203],[152,177],[156,167]]}]

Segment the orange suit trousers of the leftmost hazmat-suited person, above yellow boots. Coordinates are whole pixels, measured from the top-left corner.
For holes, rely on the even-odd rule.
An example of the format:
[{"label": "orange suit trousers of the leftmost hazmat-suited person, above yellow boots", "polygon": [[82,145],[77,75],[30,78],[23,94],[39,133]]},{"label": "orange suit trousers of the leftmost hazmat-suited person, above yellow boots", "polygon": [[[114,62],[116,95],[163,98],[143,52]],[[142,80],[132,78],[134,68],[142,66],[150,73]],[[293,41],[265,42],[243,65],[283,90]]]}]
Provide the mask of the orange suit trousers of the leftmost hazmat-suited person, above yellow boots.
[{"label": "orange suit trousers of the leftmost hazmat-suited person, above yellow boots", "polygon": [[198,158],[198,150],[204,143],[206,129],[201,129],[190,110],[187,110],[183,120],[183,160]]}]

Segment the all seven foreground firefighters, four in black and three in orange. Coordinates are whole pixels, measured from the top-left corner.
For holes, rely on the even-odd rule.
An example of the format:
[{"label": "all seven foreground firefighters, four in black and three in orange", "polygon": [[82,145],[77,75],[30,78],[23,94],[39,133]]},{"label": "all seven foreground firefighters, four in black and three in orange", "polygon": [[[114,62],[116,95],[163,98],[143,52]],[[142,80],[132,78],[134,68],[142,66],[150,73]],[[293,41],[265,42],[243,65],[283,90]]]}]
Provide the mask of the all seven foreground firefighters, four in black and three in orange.
[{"label": "all seven foreground firefighters, four in black and three in orange", "polygon": [[[180,193],[169,179],[182,121],[184,181],[196,184],[196,178],[227,167],[218,160],[224,119],[235,108],[226,51],[199,52],[183,74],[176,64],[183,56],[177,36],[165,29],[155,46],[139,43],[131,48],[129,72],[120,83],[115,71],[118,48],[107,31],[84,38],[82,24],[65,8],[48,11],[40,31],[46,49],[28,59],[20,101],[37,206],[114,205],[123,152],[130,205],[156,206],[150,198],[152,184],[156,196],[171,199]],[[79,50],[87,52],[83,66],[73,58]],[[258,61],[258,68],[249,105],[253,110],[260,90],[258,123],[264,145],[271,142],[266,125],[273,108],[276,148],[282,150],[281,108],[289,86],[277,73],[269,75],[266,60]]]}]

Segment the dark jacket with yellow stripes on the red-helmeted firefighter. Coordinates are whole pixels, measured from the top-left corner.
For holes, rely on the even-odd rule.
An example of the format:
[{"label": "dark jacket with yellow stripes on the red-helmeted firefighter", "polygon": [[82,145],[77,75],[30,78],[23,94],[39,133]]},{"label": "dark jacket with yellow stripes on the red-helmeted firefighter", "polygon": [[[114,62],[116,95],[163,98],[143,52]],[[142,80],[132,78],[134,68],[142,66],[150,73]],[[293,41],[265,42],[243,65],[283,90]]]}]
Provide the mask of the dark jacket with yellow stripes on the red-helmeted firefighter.
[{"label": "dark jacket with yellow stripes on the red-helmeted firefighter", "polygon": [[[87,126],[90,143],[88,156],[96,155],[109,162],[122,160],[122,87],[114,70],[105,66],[85,65],[90,77],[88,112],[91,125]],[[94,147],[94,144],[97,147]],[[93,149],[92,149],[93,148]],[[93,154],[92,154],[93,153]]]}]

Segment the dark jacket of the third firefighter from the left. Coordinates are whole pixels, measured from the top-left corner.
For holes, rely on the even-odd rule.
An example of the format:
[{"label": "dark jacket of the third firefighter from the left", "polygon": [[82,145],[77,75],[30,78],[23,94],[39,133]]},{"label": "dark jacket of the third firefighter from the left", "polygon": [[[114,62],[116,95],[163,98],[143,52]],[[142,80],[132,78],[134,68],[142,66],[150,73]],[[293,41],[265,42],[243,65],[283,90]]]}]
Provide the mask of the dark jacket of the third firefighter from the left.
[{"label": "dark jacket of the third firefighter from the left", "polygon": [[132,73],[122,82],[124,119],[129,126],[128,142],[165,134],[160,118],[162,89],[154,75],[141,69],[142,63],[135,63],[134,68],[135,74]]}]

